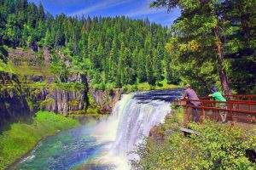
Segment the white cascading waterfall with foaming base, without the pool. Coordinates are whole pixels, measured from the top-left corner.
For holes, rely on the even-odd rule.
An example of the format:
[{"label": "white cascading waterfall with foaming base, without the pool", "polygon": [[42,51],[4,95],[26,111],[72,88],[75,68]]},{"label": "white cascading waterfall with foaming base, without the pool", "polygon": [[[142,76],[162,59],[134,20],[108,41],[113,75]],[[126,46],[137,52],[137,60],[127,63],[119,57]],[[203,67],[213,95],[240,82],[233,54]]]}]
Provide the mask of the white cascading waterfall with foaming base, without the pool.
[{"label": "white cascading waterfall with foaming base, without the pool", "polygon": [[171,111],[169,102],[133,99],[134,94],[124,94],[115,105],[111,116],[95,130],[98,142],[108,143],[108,153],[101,162],[115,164],[116,169],[130,169],[129,160],[138,159],[128,154],[148,137],[150,128],[164,122]]}]

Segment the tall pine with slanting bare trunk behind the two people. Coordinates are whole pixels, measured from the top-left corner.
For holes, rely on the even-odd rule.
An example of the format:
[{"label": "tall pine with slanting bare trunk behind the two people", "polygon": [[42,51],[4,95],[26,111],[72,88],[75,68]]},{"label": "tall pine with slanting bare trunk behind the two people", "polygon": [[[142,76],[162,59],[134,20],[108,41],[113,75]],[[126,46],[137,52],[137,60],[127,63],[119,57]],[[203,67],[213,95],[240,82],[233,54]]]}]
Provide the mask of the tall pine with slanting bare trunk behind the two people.
[{"label": "tall pine with slanting bare trunk behind the two people", "polygon": [[[230,94],[230,85],[224,67],[224,43],[220,35],[222,15],[217,14],[220,3],[222,2],[211,0],[194,2],[156,0],[151,3],[151,7],[167,8],[168,11],[179,7],[182,10],[181,17],[172,26],[173,37],[167,44],[167,50],[176,57],[177,65],[183,65],[181,71],[184,76],[186,78],[189,76],[188,80],[191,82],[197,80],[207,86],[212,74],[218,74],[224,93]],[[185,65],[188,67],[186,68]],[[216,65],[218,69],[214,70],[212,65]]]}]

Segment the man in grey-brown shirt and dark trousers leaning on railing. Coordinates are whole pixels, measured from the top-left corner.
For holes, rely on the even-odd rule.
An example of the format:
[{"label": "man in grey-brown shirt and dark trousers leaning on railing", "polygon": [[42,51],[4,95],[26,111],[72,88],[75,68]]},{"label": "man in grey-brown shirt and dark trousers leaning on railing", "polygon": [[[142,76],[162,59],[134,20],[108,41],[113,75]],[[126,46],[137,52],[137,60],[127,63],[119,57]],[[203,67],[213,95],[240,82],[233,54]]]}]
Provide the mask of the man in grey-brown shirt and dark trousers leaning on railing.
[{"label": "man in grey-brown shirt and dark trousers leaning on railing", "polygon": [[[199,100],[197,94],[191,88],[190,84],[186,84],[185,88],[186,88],[186,90],[183,94],[183,99]],[[200,104],[201,103],[199,101],[188,101],[188,105],[199,106]],[[192,121],[200,122],[200,114],[198,113],[198,109],[194,108],[194,107],[192,107]]]}]

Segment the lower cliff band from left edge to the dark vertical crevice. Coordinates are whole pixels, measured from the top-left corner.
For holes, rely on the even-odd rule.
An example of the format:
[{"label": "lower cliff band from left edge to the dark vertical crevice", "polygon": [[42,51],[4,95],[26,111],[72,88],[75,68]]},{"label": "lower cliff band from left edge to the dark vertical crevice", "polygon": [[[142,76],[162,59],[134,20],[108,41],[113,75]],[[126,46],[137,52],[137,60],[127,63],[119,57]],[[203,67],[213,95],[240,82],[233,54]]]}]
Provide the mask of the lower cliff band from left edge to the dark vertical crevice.
[{"label": "lower cliff band from left edge to the dark vertical crevice", "polygon": [[[84,111],[89,105],[87,81],[84,75],[78,75],[80,87],[70,83],[70,87],[55,84],[20,82],[12,75],[0,74],[0,125],[22,116],[30,116],[36,111],[52,111],[67,115],[69,111]],[[35,79],[35,77],[27,77]],[[39,78],[36,78],[37,80]],[[44,79],[43,79],[44,80]],[[40,82],[39,82],[40,84]]]}]

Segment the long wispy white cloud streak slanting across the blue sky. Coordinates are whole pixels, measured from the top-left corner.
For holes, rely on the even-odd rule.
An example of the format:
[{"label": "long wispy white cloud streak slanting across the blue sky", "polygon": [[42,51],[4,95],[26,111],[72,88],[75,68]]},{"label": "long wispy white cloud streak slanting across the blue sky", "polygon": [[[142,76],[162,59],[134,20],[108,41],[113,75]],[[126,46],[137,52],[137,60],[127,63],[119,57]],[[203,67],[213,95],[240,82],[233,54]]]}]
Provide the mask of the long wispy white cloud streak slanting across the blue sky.
[{"label": "long wispy white cloud streak slanting across the blue sky", "polygon": [[104,9],[104,8],[111,8],[114,6],[118,6],[120,4],[123,3],[128,3],[131,0],[124,0],[124,1],[119,1],[119,0],[104,0],[101,3],[96,3],[90,7],[86,7],[82,10],[73,12],[72,14],[68,14],[68,15],[79,15],[79,14],[89,14],[91,12],[94,12],[96,10],[100,10],[100,9]]}]

